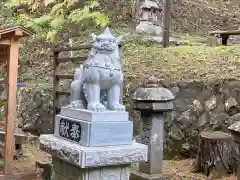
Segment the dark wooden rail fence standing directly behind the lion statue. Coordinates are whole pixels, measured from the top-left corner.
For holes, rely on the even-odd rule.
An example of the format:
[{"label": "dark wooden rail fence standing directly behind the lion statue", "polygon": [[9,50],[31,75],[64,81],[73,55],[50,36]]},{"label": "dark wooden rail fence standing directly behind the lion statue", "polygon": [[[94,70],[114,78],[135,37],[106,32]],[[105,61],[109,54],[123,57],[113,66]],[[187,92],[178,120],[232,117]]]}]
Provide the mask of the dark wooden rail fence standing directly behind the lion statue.
[{"label": "dark wooden rail fence standing directly behind the lion statue", "polygon": [[[60,57],[60,53],[70,52],[70,51],[90,50],[91,47],[92,47],[91,45],[81,45],[78,47],[65,47],[65,48],[52,49],[52,52],[53,52],[53,120],[52,120],[52,127],[51,127],[52,132],[54,132],[54,127],[55,127],[55,124],[54,124],[55,115],[59,114],[61,111],[61,108],[59,105],[59,97],[60,96],[70,96],[70,91],[59,91],[57,89],[59,81],[66,80],[66,79],[73,80],[73,74],[59,74],[59,73],[57,73],[57,67],[61,63],[66,63],[66,62],[83,63],[88,58],[88,54],[85,54],[83,56],[62,58],[62,57]],[[120,44],[119,48],[120,48],[120,55],[121,55],[122,51],[123,51],[123,44]],[[123,64],[123,62],[121,62],[121,64]]]}]

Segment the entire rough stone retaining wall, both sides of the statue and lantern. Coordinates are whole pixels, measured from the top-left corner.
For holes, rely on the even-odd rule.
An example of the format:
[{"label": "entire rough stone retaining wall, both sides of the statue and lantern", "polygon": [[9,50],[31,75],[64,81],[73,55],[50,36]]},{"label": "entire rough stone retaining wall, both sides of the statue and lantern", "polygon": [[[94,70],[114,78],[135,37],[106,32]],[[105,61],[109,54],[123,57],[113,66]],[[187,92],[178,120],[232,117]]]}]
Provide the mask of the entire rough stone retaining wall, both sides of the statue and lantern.
[{"label": "entire rough stone retaining wall, both sides of the statue and lantern", "polygon": [[[132,82],[133,84],[134,82]],[[240,81],[215,80],[205,82],[162,81],[176,100],[174,111],[165,122],[165,157],[195,156],[198,135],[203,130],[221,130],[240,120]],[[134,89],[132,88],[131,93]],[[131,105],[131,93],[129,105]],[[24,129],[35,134],[49,133],[52,120],[52,91],[50,87],[31,86],[19,89],[19,119]],[[139,114],[131,110],[134,134],[139,133]]]}]

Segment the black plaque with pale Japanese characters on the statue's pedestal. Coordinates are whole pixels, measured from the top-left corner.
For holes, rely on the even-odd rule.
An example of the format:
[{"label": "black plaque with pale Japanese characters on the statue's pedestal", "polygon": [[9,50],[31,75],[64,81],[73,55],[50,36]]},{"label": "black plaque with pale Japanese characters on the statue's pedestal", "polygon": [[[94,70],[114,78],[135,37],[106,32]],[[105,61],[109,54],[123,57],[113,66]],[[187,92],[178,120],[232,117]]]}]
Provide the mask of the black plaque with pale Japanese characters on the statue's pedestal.
[{"label": "black plaque with pale Japanese characters on the statue's pedestal", "polygon": [[60,119],[59,135],[72,141],[79,142],[81,140],[81,124],[69,119]]}]

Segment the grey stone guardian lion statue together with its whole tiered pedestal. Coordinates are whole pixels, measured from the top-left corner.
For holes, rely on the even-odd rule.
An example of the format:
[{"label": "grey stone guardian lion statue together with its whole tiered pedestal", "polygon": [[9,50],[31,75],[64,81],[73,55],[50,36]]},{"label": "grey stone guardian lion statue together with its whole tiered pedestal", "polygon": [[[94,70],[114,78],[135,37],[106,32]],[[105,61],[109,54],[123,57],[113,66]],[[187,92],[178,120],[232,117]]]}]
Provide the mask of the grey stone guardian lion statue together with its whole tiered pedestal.
[{"label": "grey stone guardian lion statue together with its whole tiered pedestal", "polygon": [[147,160],[147,146],[132,142],[133,125],[120,103],[121,37],[106,28],[92,38],[70,104],[56,116],[54,134],[40,136],[40,148],[52,155],[51,180],[128,180],[130,164]]}]

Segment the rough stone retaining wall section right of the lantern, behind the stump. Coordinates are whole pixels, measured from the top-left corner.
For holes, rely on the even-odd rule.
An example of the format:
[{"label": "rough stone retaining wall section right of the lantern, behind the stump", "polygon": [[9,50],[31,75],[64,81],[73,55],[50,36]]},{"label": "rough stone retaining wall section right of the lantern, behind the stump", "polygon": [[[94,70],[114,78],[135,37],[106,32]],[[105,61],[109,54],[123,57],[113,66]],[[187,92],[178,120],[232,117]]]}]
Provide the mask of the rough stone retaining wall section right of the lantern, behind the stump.
[{"label": "rough stone retaining wall section right of the lantern, behind the stump", "polygon": [[161,84],[176,96],[173,112],[166,115],[165,158],[195,156],[201,131],[228,132],[228,126],[240,120],[238,80]]}]

